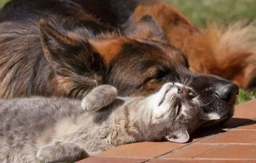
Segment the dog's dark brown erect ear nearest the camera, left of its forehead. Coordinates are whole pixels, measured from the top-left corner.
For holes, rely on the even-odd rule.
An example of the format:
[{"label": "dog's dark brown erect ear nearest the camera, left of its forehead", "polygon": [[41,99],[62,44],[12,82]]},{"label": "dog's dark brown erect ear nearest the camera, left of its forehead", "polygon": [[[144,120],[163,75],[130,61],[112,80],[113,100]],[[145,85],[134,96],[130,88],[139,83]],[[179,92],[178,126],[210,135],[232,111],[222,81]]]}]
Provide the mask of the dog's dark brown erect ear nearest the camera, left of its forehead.
[{"label": "dog's dark brown erect ear nearest the camera, left of its forehead", "polygon": [[76,74],[104,69],[103,59],[88,40],[64,29],[57,29],[57,26],[43,19],[39,26],[45,58],[58,75],[63,69]]}]

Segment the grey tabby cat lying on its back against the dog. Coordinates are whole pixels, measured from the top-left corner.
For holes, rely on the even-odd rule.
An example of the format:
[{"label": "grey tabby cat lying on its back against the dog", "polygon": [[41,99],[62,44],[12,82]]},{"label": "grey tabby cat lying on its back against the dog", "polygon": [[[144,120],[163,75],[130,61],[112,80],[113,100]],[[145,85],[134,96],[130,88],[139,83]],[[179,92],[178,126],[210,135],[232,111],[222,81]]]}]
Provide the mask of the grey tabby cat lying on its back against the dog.
[{"label": "grey tabby cat lying on its back against the dog", "polygon": [[101,85],[82,105],[54,97],[1,99],[0,162],[75,162],[128,143],[184,143],[199,124],[197,106],[177,83],[139,98],[117,97],[114,87]]}]

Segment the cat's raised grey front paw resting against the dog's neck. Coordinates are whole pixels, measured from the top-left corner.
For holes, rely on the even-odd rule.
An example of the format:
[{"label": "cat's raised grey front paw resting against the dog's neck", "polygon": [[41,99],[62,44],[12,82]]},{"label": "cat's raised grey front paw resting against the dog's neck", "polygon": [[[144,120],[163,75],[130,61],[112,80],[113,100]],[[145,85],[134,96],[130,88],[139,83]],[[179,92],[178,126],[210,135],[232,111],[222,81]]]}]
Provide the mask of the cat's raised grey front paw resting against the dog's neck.
[{"label": "cat's raised grey front paw resting against the dog's neck", "polygon": [[111,85],[100,85],[84,97],[82,108],[88,112],[96,112],[113,103],[117,97],[117,90]]}]

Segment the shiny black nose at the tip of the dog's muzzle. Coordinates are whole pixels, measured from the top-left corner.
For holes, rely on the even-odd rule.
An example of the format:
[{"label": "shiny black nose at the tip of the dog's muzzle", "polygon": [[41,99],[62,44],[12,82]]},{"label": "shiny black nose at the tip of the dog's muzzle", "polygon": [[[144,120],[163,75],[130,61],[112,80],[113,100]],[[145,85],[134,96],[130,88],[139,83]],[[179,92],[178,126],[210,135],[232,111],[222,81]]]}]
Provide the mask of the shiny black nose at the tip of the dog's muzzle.
[{"label": "shiny black nose at the tip of the dog's muzzle", "polygon": [[235,83],[220,85],[216,89],[216,94],[219,98],[225,101],[232,100],[239,91],[239,87]]}]

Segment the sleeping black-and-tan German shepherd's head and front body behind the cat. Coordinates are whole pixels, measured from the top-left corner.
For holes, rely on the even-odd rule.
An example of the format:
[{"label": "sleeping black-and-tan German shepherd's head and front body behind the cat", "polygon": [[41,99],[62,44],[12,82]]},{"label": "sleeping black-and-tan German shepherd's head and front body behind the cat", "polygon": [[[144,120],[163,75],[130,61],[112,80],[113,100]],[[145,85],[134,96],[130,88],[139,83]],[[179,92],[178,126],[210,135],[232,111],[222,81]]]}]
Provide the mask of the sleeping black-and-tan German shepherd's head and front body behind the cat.
[{"label": "sleeping black-and-tan German shepherd's head and front body behind the cat", "polygon": [[[81,99],[101,84],[113,85],[120,96],[139,96],[179,82],[212,116],[204,126],[229,119],[238,86],[190,71],[186,56],[151,15],[125,24],[136,5],[126,0],[7,3],[0,11],[0,97]],[[120,24],[126,27],[116,28]]]}]

